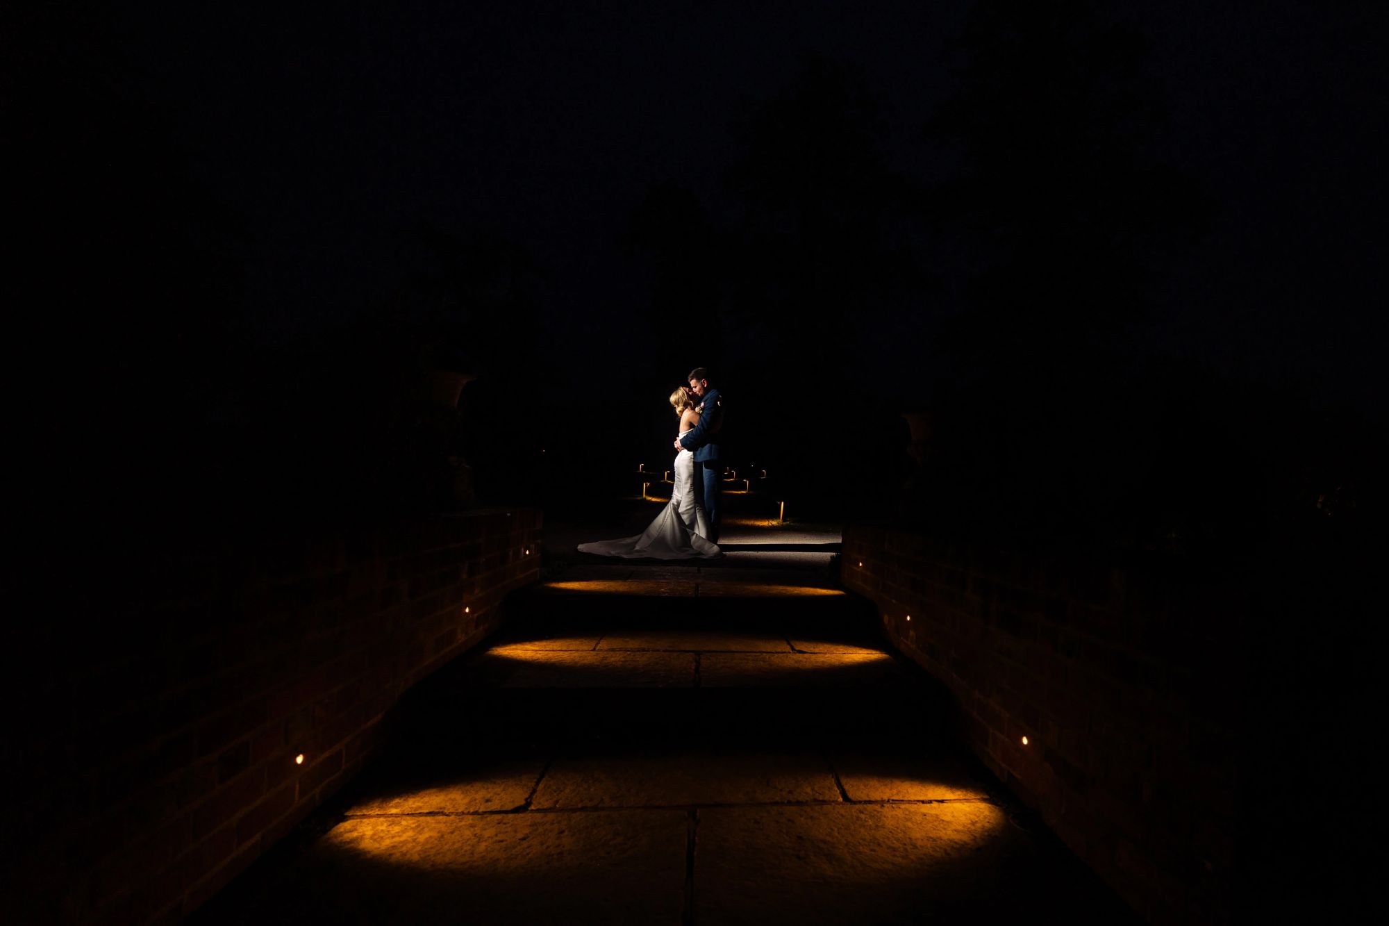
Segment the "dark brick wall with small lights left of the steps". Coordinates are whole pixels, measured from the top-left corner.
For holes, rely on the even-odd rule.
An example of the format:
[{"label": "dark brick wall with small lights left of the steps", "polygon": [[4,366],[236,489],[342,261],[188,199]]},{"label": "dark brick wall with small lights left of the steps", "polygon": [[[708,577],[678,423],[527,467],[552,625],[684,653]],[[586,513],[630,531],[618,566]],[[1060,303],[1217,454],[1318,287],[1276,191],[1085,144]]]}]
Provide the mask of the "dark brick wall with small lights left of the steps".
[{"label": "dark brick wall with small lights left of the steps", "polygon": [[106,551],[106,570],[89,551],[82,613],[24,640],[46,651],[19,692],[19,909],[0,919],[197,908],[361,769],[406,688],[497,626],[539,539],[517,509],[161,562]]}]

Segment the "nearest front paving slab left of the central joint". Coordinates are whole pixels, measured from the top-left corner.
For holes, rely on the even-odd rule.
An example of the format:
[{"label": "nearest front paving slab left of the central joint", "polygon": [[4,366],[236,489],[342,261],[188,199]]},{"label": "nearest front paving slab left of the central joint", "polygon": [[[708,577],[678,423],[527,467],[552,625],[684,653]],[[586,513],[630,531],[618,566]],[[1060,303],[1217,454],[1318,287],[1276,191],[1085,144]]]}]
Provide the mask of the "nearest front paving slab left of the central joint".
[{"label": "nearest front paving slab left of the central joint", "polygon": [[314,845],[299,922],[676,926],[688,826],[682,811],[350,819]]}]

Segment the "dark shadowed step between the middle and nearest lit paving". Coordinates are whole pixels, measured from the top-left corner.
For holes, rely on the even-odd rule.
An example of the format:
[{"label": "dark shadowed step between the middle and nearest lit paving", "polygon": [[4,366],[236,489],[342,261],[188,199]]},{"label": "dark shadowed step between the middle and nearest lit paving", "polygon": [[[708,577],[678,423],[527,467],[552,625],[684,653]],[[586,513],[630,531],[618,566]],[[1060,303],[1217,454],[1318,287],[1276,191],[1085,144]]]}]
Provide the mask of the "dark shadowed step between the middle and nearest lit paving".
[{"label": "dark shadowed step between the middle and nearest lit paving", "polygon": [[[525,684],[497,684],[486,659],[450,667],[407,694],[392,717],[393,738],[410,742],[410,749],[442,752],[507,751],[518,744],[799,748],[903,740],[924,747],[958,740],[949,697],[922,673],[885,655],[867,663],[853,656],[847,667],[797,669],[786,673],[790,679],[771,680],[782,684],[746,666],[749,684],[713,684],[710,676],[731,679],[704,672],[710,659],[760,659],[764,653],[700,653],[697,663],[693,653],[661,655],[686,660],[689,674],[681,684],[638,687],[647,679],[629,665],[610,666],[611,680],[596,669],[599,677],[582,676],[569,684],[563,679],[538,684],[556,679],[529,672],[521,676]],[[696,669],[701,670],[697,677]]]}]

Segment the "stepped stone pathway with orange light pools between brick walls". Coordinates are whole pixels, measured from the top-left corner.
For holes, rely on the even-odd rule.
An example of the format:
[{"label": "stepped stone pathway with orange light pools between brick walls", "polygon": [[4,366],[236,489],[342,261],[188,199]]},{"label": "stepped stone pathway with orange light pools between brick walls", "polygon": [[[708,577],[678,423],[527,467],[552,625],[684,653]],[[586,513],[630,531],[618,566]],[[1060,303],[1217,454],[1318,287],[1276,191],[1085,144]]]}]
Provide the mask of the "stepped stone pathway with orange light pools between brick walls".
[{"label": "stepped stone pathway with orange light pools between brick walls", "polygon": [[550,576],[193,922],[1128,922],[815,564]]}]

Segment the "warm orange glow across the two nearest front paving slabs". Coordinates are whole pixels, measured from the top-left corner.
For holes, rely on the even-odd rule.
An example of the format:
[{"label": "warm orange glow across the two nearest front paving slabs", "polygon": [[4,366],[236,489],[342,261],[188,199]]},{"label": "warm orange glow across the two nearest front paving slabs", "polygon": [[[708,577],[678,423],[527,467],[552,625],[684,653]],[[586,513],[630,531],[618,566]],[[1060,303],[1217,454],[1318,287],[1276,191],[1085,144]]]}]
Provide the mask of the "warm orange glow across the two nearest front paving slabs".
[{"label": "warm orange glow across the two nearest front paving slabs", "polygon": [[[658,777],[658,776],[657,776]],[[664,797],[664,795],[663,795]],[[679,797],[665,797],[674,802]],[[945,801],[897,805],[736,806],[720,808],[700,820],[708,843],[724,847],[767,845],[768,870],[788,872],[801,893],[829,902],[832,891],[872,895],[890,884],[947,884],[958,877],[961,858],[982,858],[997,865],[1008,850],[1022,852],[1020,837],[1008,827],[1007,813],[985,801]],[[375,866],[421,872],[451,887],[450,904],[478,904],[486,909],[515,911],[543,902],[508,894],[510,886],[556,877],[581,884],[586,868],[579,859],[600,859],[613,872],[624,872],[622,887],[642,897],[644,907],[664,911],[664,900],[646,884],[658,884],[667,872],[656,847],[679,847],[683,820],[674,811],[614,808],[606,813],[476,813],[353,816],[335,826],[315,845],[318,859],[347,873],[372,872]],[[775,837],[768,837],[775,834]],[[500,850],[499,847],[506,847]],[[796,847],[788,850],[786,847]],[[726,851],[726,850],[725,850]],[[799,855],[793,855],[799,852]],[[861,859],[872,855],[872,865]],[[563,865],[556,868],[556,859]],[[807,870],[808,869],[808,870]],[[350,875],[349,875],[350,877]],[[390,882],[388,882],[390,883]],[[606,880],[603,882],[606,883]],[[817,887],[828,884],[828,888]],[[910,888],[908,888],[910,890]],[[606,895],[599,895],[606,900]],[[964,895],[954,895],[958,898]],[[438,902],[438,901],[436,901]],[[418,909],[418,907],[417,907]],[[529,919],[514,922],[565,922],[569,909],[542,907]],[[618,908],[625,912],[626,908]],[[504,918],[496,918],[499,922]],[[625,919],[617,913],[610,920]],[[654,922],[646,916],[642,922]],[[418,920],[417,920],[418,922]],[[604,920],[593,920],[604,922]],[[635,922],[635,920],[628,920]],[[768,920],[764,920],[768,922]],[[828,920],[824,920],[828,922]],[[903,920],[899,920],[903,922]]]}]

